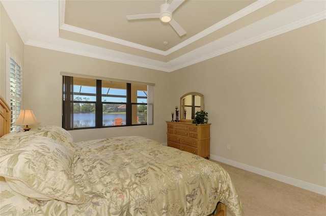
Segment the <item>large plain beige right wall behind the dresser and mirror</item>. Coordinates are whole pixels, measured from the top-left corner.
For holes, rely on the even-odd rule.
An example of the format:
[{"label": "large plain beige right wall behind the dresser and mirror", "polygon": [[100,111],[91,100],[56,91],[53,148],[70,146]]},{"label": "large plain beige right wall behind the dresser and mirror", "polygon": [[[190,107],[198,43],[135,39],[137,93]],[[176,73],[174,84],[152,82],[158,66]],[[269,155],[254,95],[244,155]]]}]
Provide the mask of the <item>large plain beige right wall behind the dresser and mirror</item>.
[{"label": "large plain beige right wall behind the dresser and mirror", "polygon": [[176,96],[205,97],[211,155],[326,186],[325,26],[319,21],[171,73]]}]

